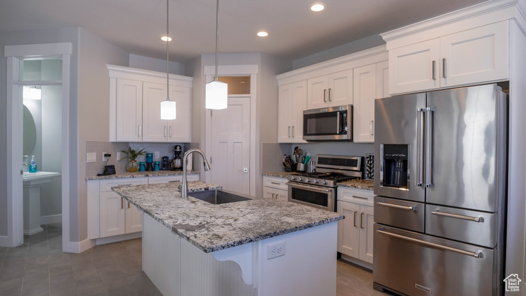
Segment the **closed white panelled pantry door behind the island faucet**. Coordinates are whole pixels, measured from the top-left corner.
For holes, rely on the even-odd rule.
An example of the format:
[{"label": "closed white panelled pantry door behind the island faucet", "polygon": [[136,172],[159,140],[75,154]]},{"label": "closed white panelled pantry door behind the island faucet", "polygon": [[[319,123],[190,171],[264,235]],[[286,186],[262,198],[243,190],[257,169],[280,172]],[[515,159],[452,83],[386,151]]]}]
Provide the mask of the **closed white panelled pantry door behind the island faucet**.
[{"label": "closed white panelled pantry door behind the island faucet", "polygon": [[229,97],[228,107],[210,119],[210,182],[250,194],[250,98]]}]

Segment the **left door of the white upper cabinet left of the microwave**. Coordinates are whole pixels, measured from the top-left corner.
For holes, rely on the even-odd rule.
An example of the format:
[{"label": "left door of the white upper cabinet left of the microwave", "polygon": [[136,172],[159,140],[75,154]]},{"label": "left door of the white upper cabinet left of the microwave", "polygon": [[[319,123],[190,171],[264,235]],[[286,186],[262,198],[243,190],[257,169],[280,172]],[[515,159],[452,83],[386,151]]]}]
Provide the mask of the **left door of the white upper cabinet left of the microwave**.
[{"label": "left door of the white upper cabinet left of the microwave", "polygon": [[292,142],[292,88],[294,83],[278,87],[278,142]]}]

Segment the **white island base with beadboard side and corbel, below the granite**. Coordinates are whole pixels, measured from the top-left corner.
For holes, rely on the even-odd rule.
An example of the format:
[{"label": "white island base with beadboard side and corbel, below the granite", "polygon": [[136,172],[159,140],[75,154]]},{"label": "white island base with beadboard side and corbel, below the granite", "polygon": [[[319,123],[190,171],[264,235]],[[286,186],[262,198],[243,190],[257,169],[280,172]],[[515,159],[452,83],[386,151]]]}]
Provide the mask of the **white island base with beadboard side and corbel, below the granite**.
[{"label": "white island base with beadboard side and corbel, below the granite", "polygon": [[[164,296],[332,296],[337,228],[332,222],[205,253],[143,213],[143,270]],[[267,259],[268,245],[279,242],[285,254]]]}]

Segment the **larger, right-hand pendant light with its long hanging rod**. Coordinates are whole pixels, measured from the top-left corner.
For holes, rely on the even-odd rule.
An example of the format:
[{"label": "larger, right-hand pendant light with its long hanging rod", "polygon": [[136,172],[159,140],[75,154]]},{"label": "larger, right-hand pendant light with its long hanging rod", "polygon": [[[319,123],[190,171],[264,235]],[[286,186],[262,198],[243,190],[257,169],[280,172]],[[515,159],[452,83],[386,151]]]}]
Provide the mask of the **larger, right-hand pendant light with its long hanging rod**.
[{"label": "larger, right-hand pendant light with its long hanging rod", "polygon": [[216,9],[216,78],[206,84],[205,108],[225,109],[228,106],[228,84],[217,80],[217,44],[219,34],[219,0]]}]

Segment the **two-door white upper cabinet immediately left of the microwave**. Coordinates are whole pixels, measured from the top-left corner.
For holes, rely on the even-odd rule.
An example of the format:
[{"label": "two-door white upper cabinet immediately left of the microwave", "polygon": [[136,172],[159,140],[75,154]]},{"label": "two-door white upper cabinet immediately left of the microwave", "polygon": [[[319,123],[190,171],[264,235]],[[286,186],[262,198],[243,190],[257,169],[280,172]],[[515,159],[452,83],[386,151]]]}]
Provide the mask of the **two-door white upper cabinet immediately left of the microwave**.
[{"label": "two-door white upper cabinet immediately left of the microwave", "polygon": [[278,142],[306,142],[303,111],[307,110],[307,81],[281,85],[278,91]]}]

